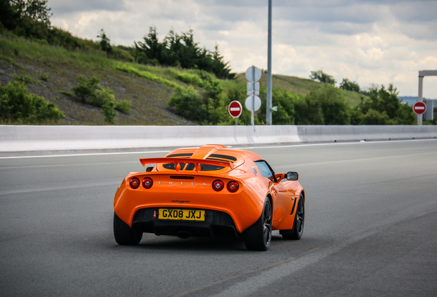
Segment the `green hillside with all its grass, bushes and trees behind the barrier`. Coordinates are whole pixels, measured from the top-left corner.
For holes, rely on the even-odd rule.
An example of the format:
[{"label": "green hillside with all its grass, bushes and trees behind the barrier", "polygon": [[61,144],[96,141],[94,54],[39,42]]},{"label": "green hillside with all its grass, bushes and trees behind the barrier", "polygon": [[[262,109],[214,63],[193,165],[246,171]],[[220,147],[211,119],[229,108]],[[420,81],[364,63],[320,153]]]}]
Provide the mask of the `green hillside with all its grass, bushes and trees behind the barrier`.
[{"label": "green hillside with all its grass, bushes and trees behind the barrier", "polygon": [[[227,107],[244,106],[245,76],[231,72],[218,47],[199,47],[192,30],[159,41],[150,27],[126,47],[103,29],[98,41],[72,36],[50,16],[45,0],[0,0],[1,124],[235,124]],[[393,85],[363,90],[344,78],[336,87],[323,70],[309,78],[273,75],[273,124],[416,122]],[[255,124],[265,124],[266,74],[260,85]],[[247,109],[238,124],[250,124]]]}]

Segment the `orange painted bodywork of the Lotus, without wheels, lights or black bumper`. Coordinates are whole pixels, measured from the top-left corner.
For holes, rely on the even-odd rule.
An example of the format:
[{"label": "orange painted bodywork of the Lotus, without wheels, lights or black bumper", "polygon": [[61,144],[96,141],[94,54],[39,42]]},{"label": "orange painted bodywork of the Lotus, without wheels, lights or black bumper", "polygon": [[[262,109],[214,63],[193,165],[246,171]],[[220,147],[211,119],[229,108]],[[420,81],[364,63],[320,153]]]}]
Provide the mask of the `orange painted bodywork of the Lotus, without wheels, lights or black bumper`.
[{"label": "orange painted bodywork of the Lotus, without wheels, lights or black bumper", "polygon": [[[157,165],[150,172],[129,173],[124,178],[115,193],[114,211],[131,226],[135,212],[142,208],[218,210],[229,214],[234,220],[236,231],[243,233],[260,218],[265,199],[270,197],[273,205],[273,230],[292,229],[295,213],[291,212],[297,206],[297,200],[304,189],[298,181],[284,179],[284,173],[276,175],[277,183],[262,177],[254,162],[257,160],[262,160],[262,157],[256,153],[221,145],[180,148],[168,153],[165,158],[140,159],[143,166]],[[165,168],[164,164],[174,164],[174,169]],[[183,170],[188,168],[186,164],[192,164],[192,170]],[[223,168],[203,171],[199,164]],[[257,170],[257,175],[252,168]],[[150,177],[153,186],[147,189],[140,185],[133,189],[129,184],[133,177],[137,177],[140,182],[144,177]],[[190,179],[179,179],[181,177]],[[219,192],[212,188],[216,179],[225,184]],[[236,192],[227,190],[229,181],[238,182]]]}]

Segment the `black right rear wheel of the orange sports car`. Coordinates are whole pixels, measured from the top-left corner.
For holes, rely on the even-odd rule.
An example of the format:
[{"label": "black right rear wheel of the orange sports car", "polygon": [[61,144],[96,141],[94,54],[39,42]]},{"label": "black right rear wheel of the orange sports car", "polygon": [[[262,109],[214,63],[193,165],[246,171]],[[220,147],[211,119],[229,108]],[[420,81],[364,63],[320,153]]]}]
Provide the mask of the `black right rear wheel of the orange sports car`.
[{"label": "black right rear wheel of the orange sports car", "polygon": [[271,243],[272,211],[270,199],[266,198],[260,219],[245,231],[247,250],[268,250]]}]

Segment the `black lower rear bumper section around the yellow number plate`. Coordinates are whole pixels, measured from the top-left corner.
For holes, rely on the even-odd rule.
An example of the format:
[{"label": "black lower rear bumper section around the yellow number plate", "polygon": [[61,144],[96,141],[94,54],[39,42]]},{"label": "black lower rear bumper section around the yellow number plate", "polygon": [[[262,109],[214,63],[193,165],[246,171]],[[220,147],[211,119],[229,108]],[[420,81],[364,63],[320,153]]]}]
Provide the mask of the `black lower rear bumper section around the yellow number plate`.
[{"label": "black lower rear bumper section around the yellow number plate", "polygon": [[205,210],[205,221],[173,221],[154,217],[159,208],[142,208],[135,212],[132,228],[156,235],[238,237],[235,223],[226,212]]}]

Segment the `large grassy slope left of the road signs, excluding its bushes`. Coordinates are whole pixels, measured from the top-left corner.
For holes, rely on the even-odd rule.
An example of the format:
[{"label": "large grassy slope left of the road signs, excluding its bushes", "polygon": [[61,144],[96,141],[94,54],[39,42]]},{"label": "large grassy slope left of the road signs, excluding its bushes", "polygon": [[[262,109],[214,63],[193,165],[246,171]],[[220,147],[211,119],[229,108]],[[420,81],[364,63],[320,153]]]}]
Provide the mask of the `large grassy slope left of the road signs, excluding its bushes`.
[{"label": "large grassy slope left of the road signs, excluding its bushes", "polygon": [[[37,81],[29,91],[54,102],[67,119],[58,124],[106,124],[102,109],[69,96],[79,75],[100,77],[100,85],[115,93],[115,100],[130,100],[131,114],[118,113],[117,124],[194,124],[168,110],[172,87],[117,70],[119,63],[102,51],[69,52],[62,47],[0,37],[0,83],[7,85],[14,74]],[[184,85],[167,74],[168,69],[142,67],[150,73]],[[43,78],[43,79],[41,79]]]}]

